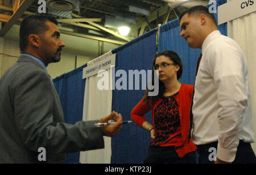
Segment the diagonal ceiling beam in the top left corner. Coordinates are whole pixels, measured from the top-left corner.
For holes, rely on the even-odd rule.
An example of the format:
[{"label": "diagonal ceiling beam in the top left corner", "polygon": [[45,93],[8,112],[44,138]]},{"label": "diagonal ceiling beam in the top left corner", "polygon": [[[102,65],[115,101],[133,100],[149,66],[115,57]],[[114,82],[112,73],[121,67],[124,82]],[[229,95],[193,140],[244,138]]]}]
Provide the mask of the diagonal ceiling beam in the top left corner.
[{"label": "diagonal ceiling beam in the top left corner", "polygon": [[0,36],[5,36],[7,32],[10,30],[11,27],[17,22],[20,16],[28,9],[28,7],[33,3],[33,0],[26,0],[20,4],[19,8],[14,12],[11,16],[9,21],[3,26],[2,30],[0,31]]}]

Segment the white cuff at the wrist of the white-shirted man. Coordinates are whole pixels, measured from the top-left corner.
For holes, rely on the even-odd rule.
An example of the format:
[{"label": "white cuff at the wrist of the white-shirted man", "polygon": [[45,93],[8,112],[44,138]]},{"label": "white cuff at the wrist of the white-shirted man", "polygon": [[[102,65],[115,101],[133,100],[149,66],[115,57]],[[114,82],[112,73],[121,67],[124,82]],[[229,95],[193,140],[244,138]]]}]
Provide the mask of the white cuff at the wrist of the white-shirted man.
[{"label": "white cuff at the wrist of the white-shirted man", "polygon": [[230,151],[229,149],[221,148],[220,145],[218,145],[217,157],[222,161],[232,163],[236,158],[236,153],[237,153],[237,149],[234,151]]}]

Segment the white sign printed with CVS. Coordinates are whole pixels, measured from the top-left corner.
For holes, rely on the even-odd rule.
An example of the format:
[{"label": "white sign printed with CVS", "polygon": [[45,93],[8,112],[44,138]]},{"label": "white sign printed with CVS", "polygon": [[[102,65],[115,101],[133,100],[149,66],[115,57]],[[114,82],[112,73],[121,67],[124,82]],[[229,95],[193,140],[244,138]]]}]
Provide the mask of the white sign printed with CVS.
[{"label": "white sign printed with CVS", "polygon": [[256,0],[233,0],[218,6],[218,25],[256,11]]}]

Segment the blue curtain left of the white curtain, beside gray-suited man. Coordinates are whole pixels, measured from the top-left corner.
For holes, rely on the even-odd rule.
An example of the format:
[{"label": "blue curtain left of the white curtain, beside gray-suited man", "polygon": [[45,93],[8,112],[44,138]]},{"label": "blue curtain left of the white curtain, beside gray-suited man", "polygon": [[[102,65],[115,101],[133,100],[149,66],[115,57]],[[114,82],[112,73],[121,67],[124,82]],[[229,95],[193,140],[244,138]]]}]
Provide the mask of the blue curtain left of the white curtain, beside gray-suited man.
[{"label": "blue curtain left of the white curtain, beside gray-suited man", "polygon": [[[75,124],[82,120],[86,80],[82,79],[82,69],[86,66],[87,64],[53,79],[60,97],[65,123]],[[79,163],[79,158],[80,152],[69,153],[67,163]]]}]

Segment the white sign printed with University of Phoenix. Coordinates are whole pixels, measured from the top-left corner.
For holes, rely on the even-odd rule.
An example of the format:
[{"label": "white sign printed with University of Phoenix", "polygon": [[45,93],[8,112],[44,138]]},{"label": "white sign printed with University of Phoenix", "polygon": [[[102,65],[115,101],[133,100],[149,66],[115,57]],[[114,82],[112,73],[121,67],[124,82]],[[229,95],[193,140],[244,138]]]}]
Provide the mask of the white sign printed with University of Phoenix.
[{"label": "white sign printed with University of Phoenix", "polygon": [[104,60],[96,62],[93,65],[87,66],[82,69],[82,79],[96,75],[100,70],[108,70],[110,66],[115,65],[115,54],[110,55]]}]

